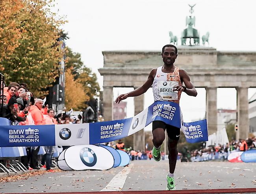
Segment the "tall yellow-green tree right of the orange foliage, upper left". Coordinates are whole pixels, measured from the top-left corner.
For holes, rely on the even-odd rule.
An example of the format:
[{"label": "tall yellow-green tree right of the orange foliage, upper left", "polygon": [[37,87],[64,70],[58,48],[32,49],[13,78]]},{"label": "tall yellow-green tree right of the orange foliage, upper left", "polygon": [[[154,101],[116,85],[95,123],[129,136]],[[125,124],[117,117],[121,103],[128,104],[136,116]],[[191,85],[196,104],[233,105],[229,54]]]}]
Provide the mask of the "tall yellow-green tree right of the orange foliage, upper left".
[{"label": "tall yellow-green tree right of the orange foliage, upper left", "polygon": [[50,11],[51,0],[20,0],[22,9],[15,15],[20,29],[18,45],[2,59],[6,82],[25,82],[37,97],[44,97],[59,72],[63,53],[58,45],[58,29],[64,21]]}]

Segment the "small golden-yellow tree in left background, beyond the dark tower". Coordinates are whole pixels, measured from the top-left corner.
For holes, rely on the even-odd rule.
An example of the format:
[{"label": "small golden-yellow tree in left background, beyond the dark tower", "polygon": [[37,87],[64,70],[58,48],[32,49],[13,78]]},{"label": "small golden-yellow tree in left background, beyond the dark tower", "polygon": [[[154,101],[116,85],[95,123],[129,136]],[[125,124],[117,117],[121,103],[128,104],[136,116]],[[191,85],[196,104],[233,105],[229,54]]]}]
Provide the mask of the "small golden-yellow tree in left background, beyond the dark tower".
[{"label": "small golden-yellow tree in left background, beyond the dark tower", "polygon": [[65,72],[65,106],[67,109],[79,110],[84,106],[84,102],[89,100],[89,96],[84,91],[82,83],[74,80],[71,69]]}]

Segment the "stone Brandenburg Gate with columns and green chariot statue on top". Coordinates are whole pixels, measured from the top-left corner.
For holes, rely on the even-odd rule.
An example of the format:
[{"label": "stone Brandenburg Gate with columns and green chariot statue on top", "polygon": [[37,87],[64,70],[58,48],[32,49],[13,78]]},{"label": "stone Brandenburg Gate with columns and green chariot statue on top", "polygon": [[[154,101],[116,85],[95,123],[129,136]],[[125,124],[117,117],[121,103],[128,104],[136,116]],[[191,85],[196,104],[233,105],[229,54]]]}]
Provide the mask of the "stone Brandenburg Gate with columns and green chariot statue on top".
[{"label": "stone Brandenburg Gate with columns and green chariot statue on top", "polygon": [[[194,24],[195,18],[187,18],[188,26]],[[239,128],[236,137],[246,139],[249,135],[248,88],[256,87],[256,52],[217,51],[213,47],[200,46],[197,30],[191,26],[183,31],[183,45],[177,47],[178,57],[174,65],[187,71],[195,87],[206,89],[208,135],[217,131],[217,88],[232,87],[237,90]],[[185,45],[184,38],[190,39],[190,46]],[[194,45],[191,45],[191,38],[194,38]],[[208,41],[208,37],[205,40]],[[140,87],[147,80],[151,69],[163,65],[163,61],[160,50],[103,51],[102,54],[104,67],[99,72],[104,76],[104,119],[108,121],[113,120],[113,87]],[[143,105],[143,95],[134,97],[135,115],[143,111]],[[134,149],[144,150],[144,145],[144,132],[141,130],[134,134]]]}]

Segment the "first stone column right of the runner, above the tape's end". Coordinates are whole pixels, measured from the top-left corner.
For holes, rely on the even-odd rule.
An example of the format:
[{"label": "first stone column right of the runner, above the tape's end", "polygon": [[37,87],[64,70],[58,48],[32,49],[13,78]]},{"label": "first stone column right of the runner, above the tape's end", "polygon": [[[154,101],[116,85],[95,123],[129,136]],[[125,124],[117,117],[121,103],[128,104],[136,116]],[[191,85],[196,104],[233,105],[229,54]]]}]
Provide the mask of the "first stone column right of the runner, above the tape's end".
[{"label": "first stone column right of the runner, above the tape's end", "polygon": [[217,88],[206,87],[206,119],[208,136],[217,132]]}]

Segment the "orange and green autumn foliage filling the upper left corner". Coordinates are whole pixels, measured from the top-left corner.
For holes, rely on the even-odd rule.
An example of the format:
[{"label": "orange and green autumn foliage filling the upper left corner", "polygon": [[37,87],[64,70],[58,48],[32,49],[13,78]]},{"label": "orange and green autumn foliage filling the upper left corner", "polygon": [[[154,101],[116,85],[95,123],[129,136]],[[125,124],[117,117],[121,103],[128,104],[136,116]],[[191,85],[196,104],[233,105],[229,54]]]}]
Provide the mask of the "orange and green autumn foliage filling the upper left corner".
[{"label": "orange and green autumn foliage filling the upper left corner", "polygon": [[50,0],[0,0],[0,71],[7,83],[27,83],[35,96],[47,94],[63,57],[58,38],[64,21],[50,5]]}]

